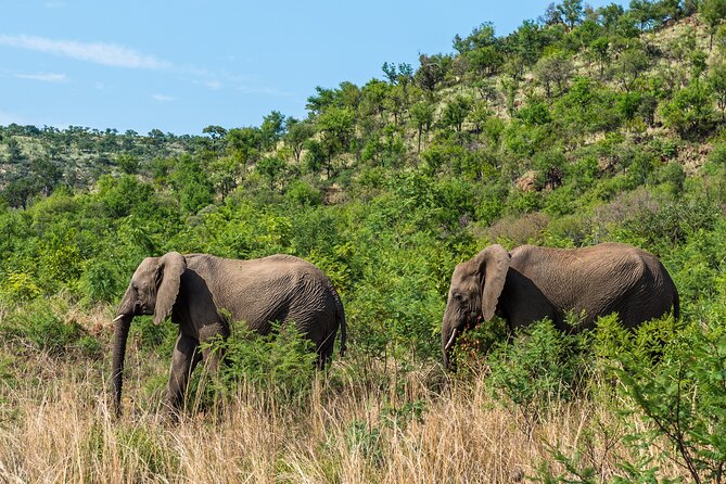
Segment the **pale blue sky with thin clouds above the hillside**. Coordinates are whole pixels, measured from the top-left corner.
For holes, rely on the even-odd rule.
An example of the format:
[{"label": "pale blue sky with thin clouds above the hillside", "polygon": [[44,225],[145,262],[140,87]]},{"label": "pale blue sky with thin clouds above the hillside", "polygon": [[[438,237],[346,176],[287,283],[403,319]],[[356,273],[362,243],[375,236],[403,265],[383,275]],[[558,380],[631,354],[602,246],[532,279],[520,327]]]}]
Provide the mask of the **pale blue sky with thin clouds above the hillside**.
[{"label": "pale blue sky with thin clouds above the hillside", "polygon": [[456,34],[489,21],[506,35],[549,3],[5,0],[0,125],[200,135],[273,110],[301,118],[316,86],[382,78],[386,61],[416,68]]}]

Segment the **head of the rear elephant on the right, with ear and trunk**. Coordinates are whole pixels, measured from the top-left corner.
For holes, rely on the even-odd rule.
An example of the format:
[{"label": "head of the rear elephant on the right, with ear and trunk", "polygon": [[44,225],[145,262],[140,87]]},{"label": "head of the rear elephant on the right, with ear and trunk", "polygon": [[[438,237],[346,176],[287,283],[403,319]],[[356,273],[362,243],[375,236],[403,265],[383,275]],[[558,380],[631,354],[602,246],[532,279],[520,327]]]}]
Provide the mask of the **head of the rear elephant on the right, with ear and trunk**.
[{"label": "head of the rear elephant on the right, with ear and trunk", "polygon": [[456,266],[442,323],[442,349],[447,368],[457,336],[481,318],[488,321],[494,317],[509,262],[509,253],[495,244]]}]

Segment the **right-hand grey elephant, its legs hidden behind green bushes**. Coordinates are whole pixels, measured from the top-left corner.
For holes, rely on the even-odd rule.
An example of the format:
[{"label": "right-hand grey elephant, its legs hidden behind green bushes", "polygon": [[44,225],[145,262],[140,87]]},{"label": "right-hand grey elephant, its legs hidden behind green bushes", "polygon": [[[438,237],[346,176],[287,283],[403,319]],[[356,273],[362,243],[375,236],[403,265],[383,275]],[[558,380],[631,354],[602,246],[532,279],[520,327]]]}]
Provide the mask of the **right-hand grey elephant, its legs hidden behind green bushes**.
[{"label": "right-hand grey elephant, its legs hidden behind green bushes", "polygon": [[459,264],[451,276],[442,324],[444,364],[456,339],[495,313],[510,330],[549,318],[562,331],[565,314],[583,315],[579,328],[617,313],[627,328],[665,315],[679,303],[671,276],[653,255],[627,244],[583,249],[522,245],[508,253],[491,245]]}]

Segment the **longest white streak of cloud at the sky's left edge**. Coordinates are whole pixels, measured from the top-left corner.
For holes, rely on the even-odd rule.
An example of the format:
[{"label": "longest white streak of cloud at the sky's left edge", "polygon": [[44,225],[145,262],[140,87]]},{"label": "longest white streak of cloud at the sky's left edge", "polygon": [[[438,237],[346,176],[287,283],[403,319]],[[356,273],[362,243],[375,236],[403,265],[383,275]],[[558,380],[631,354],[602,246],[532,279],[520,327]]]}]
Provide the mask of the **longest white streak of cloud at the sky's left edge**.
[{"label": "longest white streak of cloud at the sky's left edge", "polygon": [[47,52],[79,61],[113,67],[163,69],[171,64],[152,55],[144,55],[126,47],[103,42],[76,42],[72,40],[54,40],[36,36],[0,35],[0,44],[16,47],[39,52]]}]

